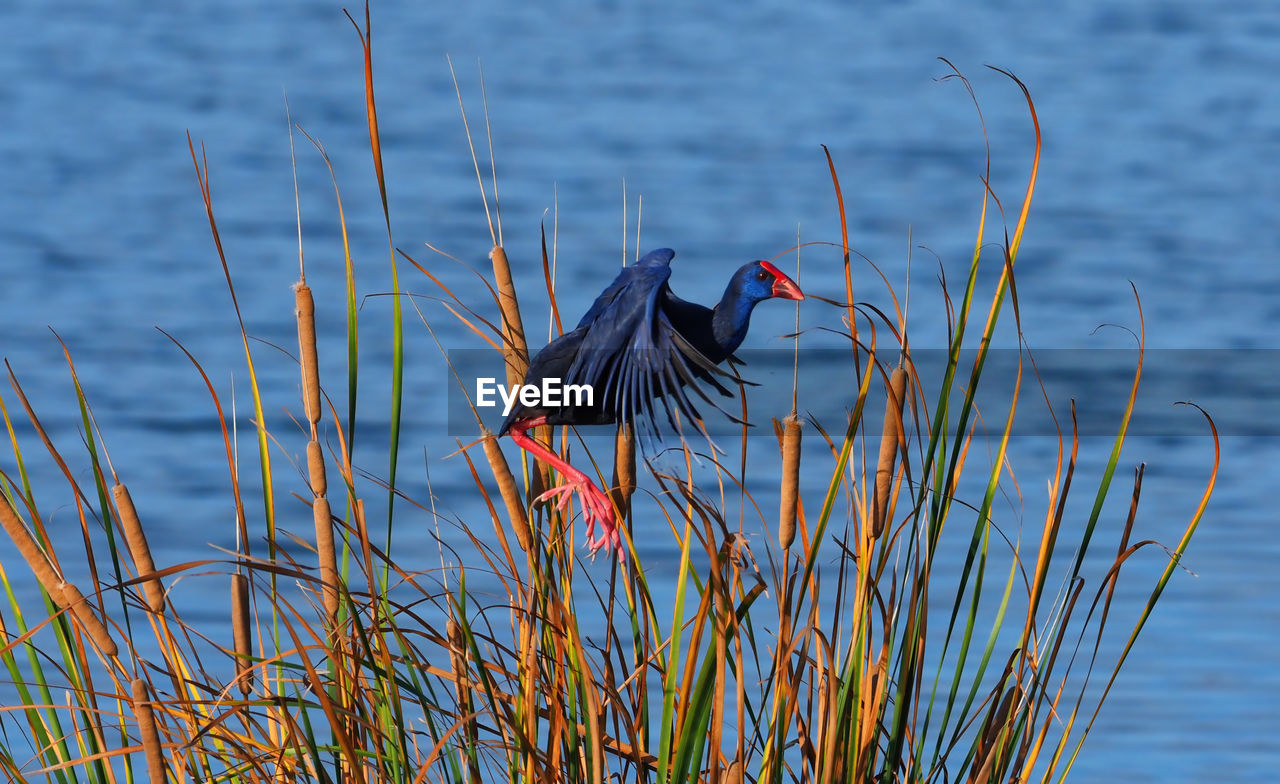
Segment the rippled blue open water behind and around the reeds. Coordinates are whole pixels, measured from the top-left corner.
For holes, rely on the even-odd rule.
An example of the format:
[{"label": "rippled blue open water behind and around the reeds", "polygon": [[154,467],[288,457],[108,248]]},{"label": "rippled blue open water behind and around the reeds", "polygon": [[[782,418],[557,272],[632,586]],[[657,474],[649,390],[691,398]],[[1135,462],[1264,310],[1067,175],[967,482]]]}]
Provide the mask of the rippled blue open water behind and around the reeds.
[{"label": "rippled blue open water behind and around the reeds", "polygon": [[[70,416],[52,327],[147,518],[157,562],[211,557],[210,543],[233,546],[221,437],[204,384],[154,327],[204,363],[228,407],[234,389],[244,448],[250,402],[186,132],[209,155],[248,331],[296,346],[285,96],[293,120],[333,159],[361,291],[390,287],[358,41],[338,4],[55,5],[0,8],[0,352],[55,442],[76,452],[79,421]],[[634,251],[643,196],[643,247],[676,247],[677,291],[714,300],[728,270],[781,254],[797,231],[801,240],[838,240],[826,143],[856,250],[901,287],[909,237],[928,249],[911,252],[911,324],[919,345],[937,346],[946,319],[932,254],[955,284],[972,252],[984,155],[964,90],[937,81],[948,69],[936,58],[946,56],[978,90],[992,181],[1006,205],[1018,202],[1027,177],[1030,124],[1016,87],[984,64],[1016,73],[1039,111],[1043,159],[1018,278],[1033,347],[1130,346],[1120,329],[1094,333],[1103,323],[1137,328],[1130,283],[1151,347],[1224,350],[1228,368],[1226,350],[1280,347],[1274,4],[1079,3],[1056,13],[1011,3],[960,10],[937,0],[872,9],[663,5],[378,4],[375,78],[397,246],[472,286],[470,296],[483,301],[474,282],[424,245],[486,263],[489,229],[445,55],[477,141],[481,60],[503,237],[521,291],[539,291],[545,220],[557,228],[561,305],[576,318],[612,275],[625,236]],[[310,143],[294,142],[307,275],[321,309],[321,370],[338,379],[333,186]],[[813,288],[838,297],[833,260],[823,247],[801,256]],[[794,269],[795,259],[780,264]],[[401,274],[406,288],[430,293],[416,272],[402,265]],[[858,274],[867,281],[859,298],[887,307],[869,269]],[[792,310],[769,305],[753,327],[756,346],[790,328]],[[362,311],[365,468],[379,475],[388,310],[388,300],[371,298]],[[447,314],[426,304],[424,313],[445,346],[474,346]],[[457,460],[442,460],[453,441],[431,402],[436,350],[410,316],[402,482],[425,494],[426,461],[438,494],[466,498],[460,491],[470,479]],[[832,319],[819,307],[803,318],[806,327]],[[545,310],[531,305],[526,324],[544,336]],[[284,410],[297,410],[296,369],[269,346],[255,352],[269,424],[292,436]],[[1236,393],[1248,396],[1253,382],[1240,383],[1245,392]],[[340,388],[330,392],[340,405]],[[8,392],[4,401],[17,414]],[[26,438],[47,521],[78,530],[56,470]],[[1024,457],[1019,482],[1034,524],[1034,493],[1051,470],[1038,461],[1051,455],[1028,446]],[[1171,582],[1076,764],[1080,780],[1256,780],[1280,766],[1280,578],[1272,569],[1280,542],[1270,492],[1277,459],[1274,437],[1244,433],[1224,443],[1217,493],[1185,559],[1197,576],[1179,573]],[[1210,445],[1144,437],[1130,443],[1125,465],[1142,460],[1148,473],[1137,535],[1172,544],[1206,480]],[[0,457],[0,469],[12,473],[12,457]],[[1114,525],[1126,482],[1117,480],[1125,487]],[[472,514],[465,501],[452,511]],[[310,525],[303,518],[293,524],[300,533]],[[403,537],[422,544],[424,557],[435,552],[424,532]],[[8,565],[6,547],[0,543]],[[662,548],[643,555],[660,574]],[[1128,596],[1125,611],[1143,598]],[[205,611],[209,623],[225,616],[220,601]]]}]

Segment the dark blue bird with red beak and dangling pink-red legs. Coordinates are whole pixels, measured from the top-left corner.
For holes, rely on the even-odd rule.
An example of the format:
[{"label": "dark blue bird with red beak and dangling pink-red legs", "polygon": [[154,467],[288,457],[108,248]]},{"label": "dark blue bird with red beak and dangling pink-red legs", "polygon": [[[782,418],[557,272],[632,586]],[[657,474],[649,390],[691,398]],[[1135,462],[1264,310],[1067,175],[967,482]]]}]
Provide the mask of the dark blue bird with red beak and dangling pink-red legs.
[{"label": "dark blue bird with red beak and dangling pink-red legs", "polygon": [[[628,423],[657,436],[660,407],[672,430],[678,433],[680,421],[689,420],[705,434],[686,388],[713,406],[714,401],[696,382],[730,396],[718,379],[739,379],[718,365],[742,345],[755,306],[772,297],[797,301],[805,297],[782,270],[758,260],[733,273],[714,307],[689,302],[677,297],[668,284],[675,255],[673,250],[663,247],[623,266],[577,327],[530,360],[524,379],[526,387],[541,388],[547,379],[557,379],[562,388],[586,384],[593,392],[589,405],[567,405],[566,401],[525,405],[521,396],[498,430],[499,437],[509,433],[520,448],[563,477],[559,487],[540,494],[536,501],[554,500],[563,511],[570,498],[575,493],[579,496],[588,548],[593,555],[612,544],[618,559],[623,557],[609,497],[586,474],[531,438],[529,430],[541,425]],[[599,537],[594,535],[596,524],[600,525]]]}]

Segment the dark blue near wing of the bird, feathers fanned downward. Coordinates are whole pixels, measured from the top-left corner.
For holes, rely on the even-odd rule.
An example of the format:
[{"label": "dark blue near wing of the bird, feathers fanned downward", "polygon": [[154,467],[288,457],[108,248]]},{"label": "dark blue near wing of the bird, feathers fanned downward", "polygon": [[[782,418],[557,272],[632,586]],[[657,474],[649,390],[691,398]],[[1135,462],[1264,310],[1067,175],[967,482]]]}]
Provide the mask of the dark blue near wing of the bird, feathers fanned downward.
[{"label": "dark blue near wing of the bird, feathers fanned downward", "polygon": [[[598,406],[620,421],[658,434],[658,406],[672,430],[692,421],[707,434],[701,415],[686,389],[739,421],[707,396],[696,379],[721,395],[731,392],[716,377],[735,378],[716,366],[672,325],[662,307],[671,295],[671,259],[659,250],[625,268],[596,297],[579,323],[585,328],[566,383],[590,384]],[[678,415],[678,416],[677,416]]]}]

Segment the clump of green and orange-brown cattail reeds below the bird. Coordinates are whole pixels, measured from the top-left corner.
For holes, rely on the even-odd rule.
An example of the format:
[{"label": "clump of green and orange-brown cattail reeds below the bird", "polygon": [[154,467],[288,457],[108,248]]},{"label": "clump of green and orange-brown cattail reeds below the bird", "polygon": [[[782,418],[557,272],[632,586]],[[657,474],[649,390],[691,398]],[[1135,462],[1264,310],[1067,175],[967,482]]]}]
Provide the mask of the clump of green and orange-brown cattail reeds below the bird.
[{"label": "clump of green and orange-brown cattail reeds below the bird", "polygon": [[[361,41],[371,151],[389,216],[367,15]],[[1027,105],[1034,123],[1029,94]],[[1101,475],[1088,484],[1078,475],[1079,438],[1066,428],[1046,475],[1048,503],[1038,527],[1010,535],[997,525],[992,507],[1010,470],[1018,391],[1033,379],[1034,368],[1024,351],[1027,379],[1021,373],[988,379],[983,363],[1005,306],[1015,320],[1021,318],[1014,269],[1036,188],[1038,124],[1036,141],[1037,158],[1020,206],[996,242],[988,209],[1000,202],[989,190],[983,195],[968,278],[954,298],[947,295],[950,361],[941,378],[920,378],[916,372],[906,318],[887,284],[893,316],[855,302],[844,233],[838,247],[849,298],[837,305],[856,387],[849,391],[849,415],[838,428],[812,421],[801,439],[795,407],[776,420],[781,501],[771,535],[746,535],[771,527],[763,514],[744,512],[733,530],[732,512],[699,488],[714,483],[722,497],[732,496],[726,487],[736,488],[744,510],[759,509],[745,479],[745,434],[736,471],[716,455],[701,455],[713,478],[699,473],[695,482],[699,456],[689,445],[673,450],[682,470],[672,471],[637,462],[630,429],[620,428],[608,486],[627,521],[627,539],[636,530],[653,535],[667,529],[678,552],[673,582],[662,591],[654,589],[634,547],[621,565],[584,568],[573,547],[572,520],[529,503],[554,477],[529,462],[512,470],[503,445],[483,425],[457,457],[467,466],[492,527],[485,530],[481,520],[462,527],[479,560],[433,575],[421,570],[421,553],[392,553],[392,519],[420,520],[433,503],[403,494],[396,484],[403,383],[399,296],[392,298],[389,336],[394,368],[388,478],[370,483],[352,466],[361,377],[349,251],[346,416],[325,395],[340,382],[323,383],[319,374],[316,304],[301,252],[294,290],[301,438],[265,429],[255,357],[241,328],[262,477],[261,512],[252,515],[252,524],[237,480],[234,428],[205,378],[224,434],[239,533],[238,550],[224,559],[152,561],[69,354],[88,436],[82,456],[91,469],[87,486],[67,468],[70,457],[44,434],[10,369],[14,396],[65,475],[91,579],[81,587],[63,579],[61,559],[70,557],[70,546],[47,535],[41,512],[46,506],[37,503],[27,475],[29,446],[17,438],[0,398],[12,446],[0,477],[5,496],[0,523],[23,561],[0,564],[8,597],[6,611],[0,612],[0,662],[8,674],[5,688],[18,697],[0,708],[8,738],[0,769],[13,780],[47,781],[1066,778],[1201,520],[1216,455],[1203,496],[1137,617],[1117,619],[1111,603],[1123,566],[1149,544],[1132,542],[1140,466],[1125,524],[1119,532],[1100,525],[1133,397]],[[192,160],[234,304],[209,167],[195,146]],[[844,225],[833,161],[831,173]],[[340,193],[338,205],[346,247]],[[389,228],[388,247],[393,270],[398,260],[421,270],[438,286],[445,306],[498,350],[508,378],[518,380],[529,350],[500,237],[499,227],[492,237],[493,301],[474,306],[426,265],[398,252]],[[980,264],[1001,270],[984,314]],[[547,257],[543,269],[556,310]],[[393,293],[401,292],[397,275]],[[977,346],[972,365],[960,360],[966,346]],[[204,374],[196,357],[187,356]],[[1134,389],[1140,350],[1138,356]],[[1012,389],[1004,421],[987,432],[979,428],[974,393],[979,384],[992,383],[1011,383]],[[881,387],[887,404],[877,430],[867,404],[873,388]],[[927,398],[925,389],[937,389],[936,396]],[[337,434],[335,447],[321,442],[326,423]],[[544,443],[568,447],[568,433],[544,430],[538,434]],[[874,450],[869,445],[878,434]],[[270,469],[273,442],[305,452],[305,483],[278,487]],[[989,465],[970,465],[975,443],[991,451]],[[476,445],[488,470],[475,462]],[[824,492],[808,497],[803,492],[801,455],[806,477],[826,478]],[[603,482],[604,468],[596,473]],[[1068,515],[1073,489],[1094,498],[1084,519]],[[280,502],[279,493],[291,492],[311,506],[314,543],[282,533],[283,519],[303,514]],[[365,516],[370,492],[399,501],[388,503],[385,539]],[[959,575],[950,578],[937,568],[945,533],[948,543],[966,546]],[[1116,543],[1101,574],[1091,571],[1085,560],[1097,550],[1096,534]],[[251,543],[261,541],[266,551],[252,552]],[[1068,551],[1074,557],[1064,561],[1061,553]],[[42,606],[19,600],[14,580],[28,576],[38,583]],[[206,637],[165,593],[166,585],[170,592],[192,585],[220,592],[228,579],[229,639]],[[477,580],[497,585],[498,597],[488,588],[472,591],[468,585]],[[1126,642],[1117,656],[1103,661],[1102,630],[1117,624]]]}]

